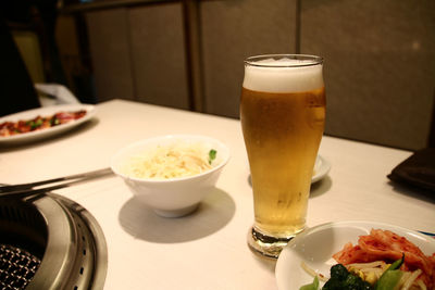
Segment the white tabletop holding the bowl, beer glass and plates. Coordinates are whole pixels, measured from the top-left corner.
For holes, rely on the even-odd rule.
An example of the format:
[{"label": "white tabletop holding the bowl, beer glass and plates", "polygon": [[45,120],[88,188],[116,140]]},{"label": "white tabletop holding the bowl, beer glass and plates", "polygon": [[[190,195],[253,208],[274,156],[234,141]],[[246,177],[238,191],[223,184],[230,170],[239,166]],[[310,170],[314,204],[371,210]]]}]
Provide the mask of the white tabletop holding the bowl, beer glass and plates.
[{"label": "white tabletop holding the bowl, beer glass and plates", "polygon": [[[125,144],[166,134],[209,135],[232,151],[216,189],[183,218],[158,217],[115,176],[57,191],[84,205],[105,235],[104,289],[276,289],[274,263],[246,245],[253,210],[239,122],[121,100],[97,109],[95,119],[65,135],[0,148],[0,182],[107,167]],[[386,177],[411,152],[324,137],[320,154],[332,169],[312,187],[308,226],[365,219],[435,231],[435,203]]]}]

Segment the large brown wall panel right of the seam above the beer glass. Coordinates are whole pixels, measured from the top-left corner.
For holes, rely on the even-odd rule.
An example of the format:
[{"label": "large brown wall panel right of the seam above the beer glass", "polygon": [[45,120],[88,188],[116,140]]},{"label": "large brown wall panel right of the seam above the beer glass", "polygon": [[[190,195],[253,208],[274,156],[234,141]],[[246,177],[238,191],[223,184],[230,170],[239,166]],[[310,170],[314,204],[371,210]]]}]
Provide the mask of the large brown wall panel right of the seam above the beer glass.
[{"label": "large brown wall panel right of the seam above the beer glass", "polygon": [[301,52],[325,58],[326,134],[417,150],[435,91],[435,2],[302,0]]}]

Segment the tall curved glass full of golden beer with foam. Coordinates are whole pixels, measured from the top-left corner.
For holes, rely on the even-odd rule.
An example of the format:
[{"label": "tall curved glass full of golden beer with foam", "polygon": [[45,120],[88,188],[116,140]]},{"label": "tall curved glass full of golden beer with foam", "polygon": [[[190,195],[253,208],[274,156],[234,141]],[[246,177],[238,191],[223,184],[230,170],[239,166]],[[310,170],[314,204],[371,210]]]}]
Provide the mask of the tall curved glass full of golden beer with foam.
[{"label": "tall curved glass full of golden beer with foam", "polygon": [[277,257],[303,230],[311,178],[325,123],[323,59],[248,58],[240,121],[253,191],[253,252]]}]

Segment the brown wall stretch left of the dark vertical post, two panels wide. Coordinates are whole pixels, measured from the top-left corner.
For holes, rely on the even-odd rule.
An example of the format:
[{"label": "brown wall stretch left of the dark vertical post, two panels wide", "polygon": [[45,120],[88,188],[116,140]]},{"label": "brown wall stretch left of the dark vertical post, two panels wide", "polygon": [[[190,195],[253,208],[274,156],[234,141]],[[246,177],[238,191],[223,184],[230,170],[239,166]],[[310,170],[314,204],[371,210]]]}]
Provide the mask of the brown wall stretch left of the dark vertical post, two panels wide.
[{"label": "brown wall stretch left of the dark vertical post, two panels wide", "polygon": [[169,3],[86,14],[99,101],[188,109],[182,12]]}]

